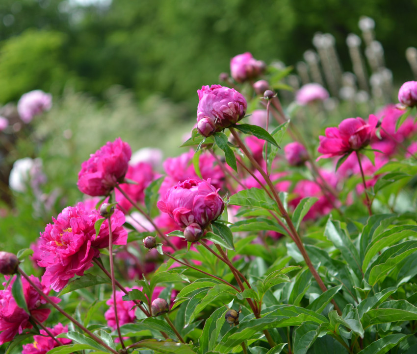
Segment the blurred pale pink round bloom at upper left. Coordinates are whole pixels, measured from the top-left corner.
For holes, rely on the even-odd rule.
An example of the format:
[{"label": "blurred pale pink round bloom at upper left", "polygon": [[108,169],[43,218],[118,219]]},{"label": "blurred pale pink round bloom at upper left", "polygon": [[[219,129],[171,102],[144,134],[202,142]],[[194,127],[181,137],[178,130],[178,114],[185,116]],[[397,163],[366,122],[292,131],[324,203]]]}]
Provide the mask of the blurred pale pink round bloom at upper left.
[{"label": "blurred pale pink round bloom at upper left", "polygon": [[25,123],[29,123],[34,116],[49,111],[51,107],[52,94],[46,94],[42,90],[30,91],[22,95],[17,103],[17,111]]}]

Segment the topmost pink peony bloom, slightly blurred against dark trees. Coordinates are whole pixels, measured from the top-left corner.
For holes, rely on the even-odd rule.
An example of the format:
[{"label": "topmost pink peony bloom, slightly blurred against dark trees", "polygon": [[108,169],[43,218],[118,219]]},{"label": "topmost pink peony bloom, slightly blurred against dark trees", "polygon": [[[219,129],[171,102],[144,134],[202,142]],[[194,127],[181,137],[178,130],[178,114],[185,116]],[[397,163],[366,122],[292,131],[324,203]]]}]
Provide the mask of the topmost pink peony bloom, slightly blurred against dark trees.
[{"label": "topmost pink peony bloom, slightly blurred against dark trees", "polygon": [[258,77],[265,70],[265,63],[256,60],[251,53],[236,55],[230,61],[230,72],[236,82]]}]

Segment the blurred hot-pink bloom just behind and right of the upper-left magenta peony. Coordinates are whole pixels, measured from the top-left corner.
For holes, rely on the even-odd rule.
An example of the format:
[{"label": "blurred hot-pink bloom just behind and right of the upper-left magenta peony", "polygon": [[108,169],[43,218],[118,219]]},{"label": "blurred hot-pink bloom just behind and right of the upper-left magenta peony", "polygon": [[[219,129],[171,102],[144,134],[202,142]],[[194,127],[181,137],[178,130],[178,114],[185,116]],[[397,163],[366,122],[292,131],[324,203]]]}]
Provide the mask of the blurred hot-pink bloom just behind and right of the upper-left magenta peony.
[{"label": "blurred hot-pink bloom just behind and right of the upper-left magenta peony", "polygon": [[[143,202],[145,199],[145,188],[157,177],[152,165],[146,162],[139,162],[136,165],[129,165],[128,172],[125,178],[135,181],[136,184],[123,183],[120,188],[123,189],[126,194],[134,202]],[[115,190],[116,200],[124,210],[129,211],[132,205],[119,191]]]}]

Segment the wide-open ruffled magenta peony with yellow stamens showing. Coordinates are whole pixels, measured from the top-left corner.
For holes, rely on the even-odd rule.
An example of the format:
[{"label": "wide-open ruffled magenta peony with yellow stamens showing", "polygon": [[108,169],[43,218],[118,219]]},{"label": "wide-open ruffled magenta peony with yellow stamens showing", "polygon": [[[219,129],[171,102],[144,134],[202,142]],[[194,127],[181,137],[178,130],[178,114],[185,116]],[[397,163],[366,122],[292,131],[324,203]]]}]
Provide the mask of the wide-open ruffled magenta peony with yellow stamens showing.
[{"label": "wide-open ruffled magenta peony with yellow stamens showing", "polygon": [[[53,224],[41,233],[39,248],[43,251],[38,265],[46,267],[42,281],[60,291],[75,275],[82,276],[93,266],[100,248],[108,246],[108,222],[105,220],[96,236],[95,222],[101,218],[97,210],[88,210],[83,203],[65,208]],[[115,210],[110,218],[113,244],[125,245],[127,231],[123,228],[125,215]]]}]

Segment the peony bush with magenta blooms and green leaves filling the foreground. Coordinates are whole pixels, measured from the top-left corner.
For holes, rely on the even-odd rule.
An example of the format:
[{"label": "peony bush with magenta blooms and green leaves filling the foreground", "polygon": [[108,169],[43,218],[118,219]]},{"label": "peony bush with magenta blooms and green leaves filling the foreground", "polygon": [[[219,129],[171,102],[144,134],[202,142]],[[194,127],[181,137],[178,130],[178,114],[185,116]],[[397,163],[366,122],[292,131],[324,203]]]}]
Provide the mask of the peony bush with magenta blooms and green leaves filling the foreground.
[{"label": "peony bush with magenta blooms and green leaves filling the foreground", "polygon": [[288,73],[233,58],[180,156],[85,152],[78,202],[0,251],[5,353],[415,353],[417,83],[326,117],[322,85],[285,103]]}]

